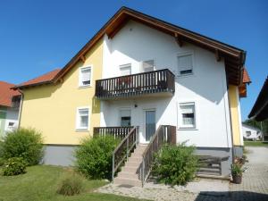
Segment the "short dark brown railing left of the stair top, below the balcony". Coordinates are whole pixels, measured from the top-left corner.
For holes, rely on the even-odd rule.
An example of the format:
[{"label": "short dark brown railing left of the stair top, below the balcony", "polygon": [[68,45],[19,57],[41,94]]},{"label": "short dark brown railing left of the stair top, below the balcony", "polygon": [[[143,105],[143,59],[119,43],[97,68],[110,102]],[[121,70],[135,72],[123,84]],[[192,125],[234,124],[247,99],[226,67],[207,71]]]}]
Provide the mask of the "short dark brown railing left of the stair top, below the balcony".
[{"label": "short dark brown railing left of the stair top, below the balcony", "polygon": [[93,136],[112,135],[114,138],[125,138],[133,126],[130,127],[95,127]]}]

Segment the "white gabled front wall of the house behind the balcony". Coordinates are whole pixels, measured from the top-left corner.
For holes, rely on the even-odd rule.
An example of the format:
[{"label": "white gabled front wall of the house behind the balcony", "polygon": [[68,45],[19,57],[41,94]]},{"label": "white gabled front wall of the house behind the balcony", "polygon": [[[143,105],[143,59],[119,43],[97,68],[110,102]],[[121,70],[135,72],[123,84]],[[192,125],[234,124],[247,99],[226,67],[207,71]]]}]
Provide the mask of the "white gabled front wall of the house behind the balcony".
[{"label": "white gabled front wall of the house behind the balcony", "polygon": [[[179,76],[178,56],[192,54],[193,73]],[[105,37],[103,79],[121,76],[120,66],[131,65],[131,74],[142,72],[142,62],[154,60],[155,70],[168,68],[175,76],[175,93],[168,97],[133,97],[102,101],[101,126],[120,126],[120,110],[130,109],[131,125],[139,126],[145,143],[145,111],[155,110],[159,125],[177,127],[179,142],[197,147],[231,147],[230,112],[224,62],[205,49],[184,43],[135,21],[129,21],[112,39]],[[195,128],[180,129],[182,103],[195,104]]]}]

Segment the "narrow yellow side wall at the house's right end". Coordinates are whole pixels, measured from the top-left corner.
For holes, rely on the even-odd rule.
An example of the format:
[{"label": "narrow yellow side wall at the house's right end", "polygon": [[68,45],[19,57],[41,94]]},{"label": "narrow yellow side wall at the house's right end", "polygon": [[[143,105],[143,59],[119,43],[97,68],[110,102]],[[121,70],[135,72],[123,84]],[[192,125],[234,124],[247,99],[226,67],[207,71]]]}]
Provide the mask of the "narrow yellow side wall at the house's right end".
[{"label": "narrow yellow side wall at the house's right end", "polygon": [[240,121],[239,121],[239,96],[238,96],[238,87],[229,86],[229,101],[230,101],[230,119],[231,119],[231,129],[233,137],[234,146],[243,146],[241,141],[243,141],[240,135]]}]

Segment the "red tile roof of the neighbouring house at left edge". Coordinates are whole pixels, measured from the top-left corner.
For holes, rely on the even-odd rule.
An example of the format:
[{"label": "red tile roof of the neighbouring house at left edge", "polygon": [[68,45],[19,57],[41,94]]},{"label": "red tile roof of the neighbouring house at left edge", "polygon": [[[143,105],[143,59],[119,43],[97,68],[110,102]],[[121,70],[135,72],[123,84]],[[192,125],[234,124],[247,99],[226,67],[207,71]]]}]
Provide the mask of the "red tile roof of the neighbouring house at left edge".
[{"label": "red tile roof of the neighbouring house at left edge", "polygon": [[0,81],[0,105],[12,106],[13,96],[21,95],[18,90],[13,90],[14,85],[5,81]]}]

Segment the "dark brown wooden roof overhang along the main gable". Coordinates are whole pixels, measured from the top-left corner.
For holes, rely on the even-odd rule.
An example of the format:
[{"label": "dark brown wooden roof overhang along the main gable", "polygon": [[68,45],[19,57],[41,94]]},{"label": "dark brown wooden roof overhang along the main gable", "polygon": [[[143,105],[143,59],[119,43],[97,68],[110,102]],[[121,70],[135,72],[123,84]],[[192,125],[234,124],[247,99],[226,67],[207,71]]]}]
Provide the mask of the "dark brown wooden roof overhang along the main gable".
[{"label": "dark brown wooden roof overhang along the main gable", "polygon": [[103,38],[105,34],[109,38],[113,38],[116,33],[128,22],[138,21],[153,29],[158,29],[166,34],[176,38],[180,45],[183,42],[188,42],[196,46],[205,48],[215,54],[217,60],[224,59],[227,80],[229,84],[239,86],[242,84],[243,66],[246,60],[246,52],[237,47],[224,44],[212,38],[207,38],[188,29],[180,28],[166,21],[161,21],[144,13],[139,13],[127,7],[122,7],[113,17],[105,23],[105,26],[100,29],[96,35],[91,38],[86,46],[83,46],[78,54],[76,54],[69,63],[60,71],[54,78],[57,82],[77,63],[88,50]]}]

